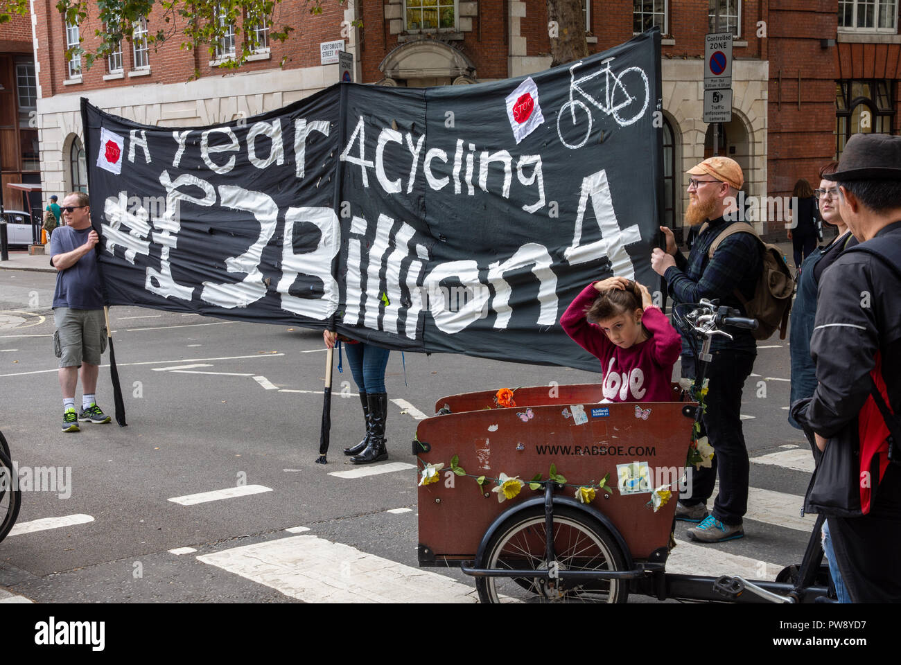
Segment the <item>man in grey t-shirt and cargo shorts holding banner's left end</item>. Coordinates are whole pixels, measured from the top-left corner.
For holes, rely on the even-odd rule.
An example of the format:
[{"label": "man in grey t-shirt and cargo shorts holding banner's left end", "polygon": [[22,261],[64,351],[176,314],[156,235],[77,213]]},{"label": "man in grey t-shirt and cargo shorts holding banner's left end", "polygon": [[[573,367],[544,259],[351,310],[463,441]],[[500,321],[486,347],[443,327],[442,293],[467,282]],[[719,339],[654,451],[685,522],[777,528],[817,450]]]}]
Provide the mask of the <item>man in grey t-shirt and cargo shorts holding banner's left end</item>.
[{"label": "man in grey t-shirt and cargo shorts holding banner's left end", "polygon": [[[72,192],[62,202],[66,226],[50,238],[50,263],[57,269],[53,319],[57,331],[54,351],[59,358],[59,387],[63,397],[63,432],[78,432],[78,421],[109,423],[96,405],[100,356],[106,349],[104,299],[91,228],[91,208],[84,192]],[[79,372],[80,368],[80,372]],[[82,408],[75,411],[75,389],[81,376]]]}]

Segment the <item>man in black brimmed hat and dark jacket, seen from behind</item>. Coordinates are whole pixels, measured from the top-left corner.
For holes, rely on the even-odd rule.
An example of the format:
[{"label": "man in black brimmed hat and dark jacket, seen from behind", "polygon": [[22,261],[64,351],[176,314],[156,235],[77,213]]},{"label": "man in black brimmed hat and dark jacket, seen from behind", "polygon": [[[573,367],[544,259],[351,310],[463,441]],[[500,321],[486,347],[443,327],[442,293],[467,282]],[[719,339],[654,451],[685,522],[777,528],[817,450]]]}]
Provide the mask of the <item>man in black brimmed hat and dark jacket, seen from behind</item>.
[{"label": "man in black brimmed hat and dark jacket, seen from behind", "polygon": [[[878,399],[901,414],[901,137],[855,134],[824,178],[835,181],[842,220],[860,245],[820,280],[810,344],[818,385],[805,419],[824,456],[805,509],[827,516],[853,602],[899,602],[901,460],[889,459],[896,423]],[[857,452],[842,457],[849,450]],[[850,473],[827,478],[842,468]]]}]

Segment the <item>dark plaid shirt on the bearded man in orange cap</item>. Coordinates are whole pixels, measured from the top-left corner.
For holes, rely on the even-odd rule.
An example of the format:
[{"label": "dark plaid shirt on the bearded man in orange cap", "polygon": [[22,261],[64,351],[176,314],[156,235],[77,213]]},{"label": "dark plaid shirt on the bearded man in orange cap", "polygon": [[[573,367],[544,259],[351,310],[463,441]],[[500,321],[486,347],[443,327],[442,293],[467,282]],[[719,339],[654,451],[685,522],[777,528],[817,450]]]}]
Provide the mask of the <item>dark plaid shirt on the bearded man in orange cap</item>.
[{"label": "dark plaid shirt on the bearded man in orange cap", "polygon": [[[760,270],[763,269],[763,248],[751,233],[733,233],[719,244],[714,258],[710,259],[707,256],[710,245],[730,223],[723,217],[710,221],[705,232],[697,236],[687,259],[682,252],[676,252],[676,266],[668,268],[663,275],[669,295],[676,303],[697,303],[701,298],[715,298],[720,305],[729,305],[744,313],[744,307],[733,291],[738,288],[742,296],[749,300],[754,296]],[[711,351],[756,351],[757,342],[750,331],[733,327],[724,330],[733,335],[733,340],[714,335],[710,343]],[[683,342],[683,350],[686,349]]]}]

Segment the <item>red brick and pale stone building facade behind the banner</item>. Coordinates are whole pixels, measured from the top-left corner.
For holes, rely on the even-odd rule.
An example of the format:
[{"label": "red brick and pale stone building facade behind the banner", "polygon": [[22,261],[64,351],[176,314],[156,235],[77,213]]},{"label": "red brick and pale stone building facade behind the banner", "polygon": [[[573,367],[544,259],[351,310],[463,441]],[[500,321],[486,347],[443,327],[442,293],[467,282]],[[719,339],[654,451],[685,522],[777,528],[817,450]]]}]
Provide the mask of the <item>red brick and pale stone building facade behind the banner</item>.
[{"label": "red brick and pale stone building facade behind the banner", "polygon": [[[735,35],[733,122],[723,126],[720,152],[742,164],[748,194],[787,193],[797,174],[813,181],[815,168],[833,157],[840,147],[836,123],[841,122],[836,80],[849,81],[851,96],[860,92],[854,81],[884,77],[891,108],[896,108],[894,78],[901,57],[896,19],[895,32],[882,30],[873,35],[881,41],[871,43],[866,30],[842,32],[838,26],[838,5],[843,11],[851,5],[853,21],[856,5],[864,0],[718,2],[721,25]],[[83,152],[79,155],[80,96],[143,123],[202,125],[287,105],[328,87],[338,77],[337,65],[321,62],[320,44],[328,41],[343,41],[344,49],[354,54],[356,80],[384,86],[467,85],[540,71],[551,62],[545,0],[436,0],[434,5],[422,0],[351,0],[345,5],[324,0],[323,14],[315,16],[302,3],[283,2],[276,23],[293,25],[295,31],[284,43],[268,43],[238,70],[223,68],[227,54],[217,58],[181,50],[179,39],[159,50],[150,46],[141,51],[140,40],[137,49],[126,43],[117,59],[79,70],[66,59],[67,40],[77,39],[73,27],[64,23],[51,0],[35,0],[33,6],[41,171],[48,195],[84,185],[78,174],[78,160],[84,159]],[[891,6],[896,14],[896,3]],[[585,8],[589,52],[627,41],[651,23],[663,32],[667,217],[677,227],[687,203],[683,173],[713,152],[713,132],[703,122],[702,82],[710,7],[710,0],[588,0]],[[363,26],[351,27],[357,19]],[[89,16],[83,26],[86,50],[96,39],[91,21]],[[148,17],[150,31],[160,21],[155,9]],[[248,29],[235,26],[236,48]],[[822,41],[830,39],[831,44]],[[224,50],[230,46],[225,44]],[[878,54],[885,67],[865,67]],[[195,70],[199,77],[188,81]],[[875,109],[883,97],[876,83],[870,87]],[[846,105],[855,104],[854,99]],[[846,115],[847,127],[857,123],[860,128],[860,113]],[[870,124],[896,129],[894,111],[872,115]],[[776,229],[777,223],[766,228]]]}]

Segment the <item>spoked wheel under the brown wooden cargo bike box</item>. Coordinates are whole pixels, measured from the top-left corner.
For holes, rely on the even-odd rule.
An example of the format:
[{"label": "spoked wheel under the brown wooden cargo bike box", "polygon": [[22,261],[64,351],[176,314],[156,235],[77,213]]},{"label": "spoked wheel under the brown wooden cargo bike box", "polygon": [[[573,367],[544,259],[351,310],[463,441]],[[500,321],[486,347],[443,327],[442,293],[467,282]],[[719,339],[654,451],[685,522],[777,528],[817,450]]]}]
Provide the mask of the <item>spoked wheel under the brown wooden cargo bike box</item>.
[{"label": "spoked wheel under the brown wooden cargo bike box", "polygon": [[[613,535],[590,515],[569,506],[554,506],[554,553],[557,570],[624,570],[623,552]],[[544,507],[513,515],[488,542],[478,568],[547,570]],[[555,588],[540,578],[477,578],[482,603],[624,603],[628,581],[558,579]]]}]

